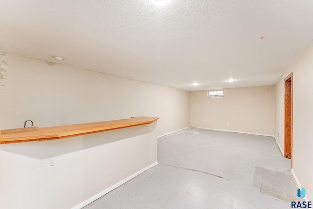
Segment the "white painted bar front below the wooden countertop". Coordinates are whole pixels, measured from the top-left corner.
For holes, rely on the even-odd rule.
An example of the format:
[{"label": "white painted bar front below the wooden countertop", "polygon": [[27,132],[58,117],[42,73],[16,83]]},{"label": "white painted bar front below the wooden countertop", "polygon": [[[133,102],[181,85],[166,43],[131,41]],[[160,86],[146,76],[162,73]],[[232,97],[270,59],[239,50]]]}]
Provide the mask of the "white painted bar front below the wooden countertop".
[{"label": "white painted bar front below the wooden countertop", "polygon": [[157,122],[1,145],[0,208],[70,209],[80,205],[156,163],[156,126]]}]

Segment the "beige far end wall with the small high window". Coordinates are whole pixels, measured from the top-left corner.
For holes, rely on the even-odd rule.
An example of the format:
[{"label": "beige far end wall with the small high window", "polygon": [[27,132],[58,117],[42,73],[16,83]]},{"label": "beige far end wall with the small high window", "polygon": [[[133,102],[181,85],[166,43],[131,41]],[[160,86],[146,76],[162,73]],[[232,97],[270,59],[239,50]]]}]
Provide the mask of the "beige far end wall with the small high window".
[{"label": "beige far end wall with the small high window", "polygon": [[191,126],[274,135],[275,86],[228,88],[219,98],[193,91],[190,101]]}]

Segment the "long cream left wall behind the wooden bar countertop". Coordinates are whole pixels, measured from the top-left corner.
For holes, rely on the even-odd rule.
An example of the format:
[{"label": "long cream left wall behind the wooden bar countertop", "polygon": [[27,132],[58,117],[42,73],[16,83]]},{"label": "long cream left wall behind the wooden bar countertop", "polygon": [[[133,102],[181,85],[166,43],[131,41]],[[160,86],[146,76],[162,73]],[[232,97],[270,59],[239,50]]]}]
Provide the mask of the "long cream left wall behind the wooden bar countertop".
[{"label": "long cream left wall behind the wooden bar countertop", "polygon": [[190,125],[188,91],[15,55],[5,61],[0,129],[22,127],[26,119],[45,127],[134,116],[159,117],[157,135]]}]

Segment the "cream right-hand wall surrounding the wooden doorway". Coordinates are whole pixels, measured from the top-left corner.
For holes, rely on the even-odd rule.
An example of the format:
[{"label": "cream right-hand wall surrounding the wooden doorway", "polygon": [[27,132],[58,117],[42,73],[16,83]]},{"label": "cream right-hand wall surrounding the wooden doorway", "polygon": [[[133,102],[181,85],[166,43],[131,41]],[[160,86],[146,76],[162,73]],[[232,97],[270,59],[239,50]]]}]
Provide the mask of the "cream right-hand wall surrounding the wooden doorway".
[{"label": "cream right-hand wall surrounding the wooden doorway", "polygon": [[[275,137],[284,149],[284,79],[293,77],[293,171],[309,200],[313,197],[313,42],[276,84]],[[278,135],[279,134],[279,135]]]}]

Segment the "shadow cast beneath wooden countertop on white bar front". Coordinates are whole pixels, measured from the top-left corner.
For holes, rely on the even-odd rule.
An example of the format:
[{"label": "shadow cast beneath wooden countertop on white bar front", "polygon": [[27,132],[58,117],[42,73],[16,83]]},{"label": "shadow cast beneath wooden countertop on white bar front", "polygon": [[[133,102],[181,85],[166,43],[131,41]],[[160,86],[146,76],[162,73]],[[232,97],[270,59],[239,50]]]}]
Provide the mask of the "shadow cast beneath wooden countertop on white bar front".
[{"label": "shadow cast beneath wooden countertop on white bar front", "polygon": [[39,160],[67,155],[73,152],[87,151],[95,146],[104,146],[120,140],[154,132],[157,122],[147,125],[121,128],[99,133],[74,136],[65,139],[24,142],[0,145],[0,151],[23,155]]}]

